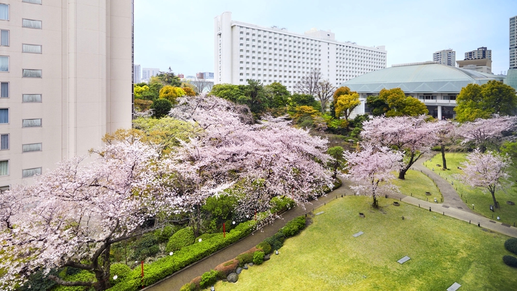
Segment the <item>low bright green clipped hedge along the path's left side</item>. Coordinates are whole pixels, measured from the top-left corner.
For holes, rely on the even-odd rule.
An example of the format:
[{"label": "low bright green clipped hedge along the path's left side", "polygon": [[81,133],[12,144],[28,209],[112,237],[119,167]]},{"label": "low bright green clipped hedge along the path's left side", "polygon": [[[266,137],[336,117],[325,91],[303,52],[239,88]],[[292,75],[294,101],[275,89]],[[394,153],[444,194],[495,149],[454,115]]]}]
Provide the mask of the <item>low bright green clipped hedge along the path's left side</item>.
[{"label": "low bright green clipped hedge along the path's left side", "polygon": [[[207,239],[203,239],[201,242],[195,242],[190,246],[185,246],[179,251],[174,252],[174,255],[160,258],[151,264],[144,264],[144,280],[145,286],[152,285],[163,278],[170,276],[176,271],[187,267],[189,264],[193,264],[201,260],[202,258],[215,253],[221,248],[225,248],[239,239],[246,237],[255,228],[256,221],[246,221],[237,225],[232,231],[223,237],[223,234],[214,234]],[[208,236],[207,236],[208,237]],[[172,238],[172,237],[171,237]],[[117,285],[108,289],[110,291],[135,291],[140,290],[141,284],[141,271],[140,268],[135,268],[126,277],[126,280],[121,281]]]}]

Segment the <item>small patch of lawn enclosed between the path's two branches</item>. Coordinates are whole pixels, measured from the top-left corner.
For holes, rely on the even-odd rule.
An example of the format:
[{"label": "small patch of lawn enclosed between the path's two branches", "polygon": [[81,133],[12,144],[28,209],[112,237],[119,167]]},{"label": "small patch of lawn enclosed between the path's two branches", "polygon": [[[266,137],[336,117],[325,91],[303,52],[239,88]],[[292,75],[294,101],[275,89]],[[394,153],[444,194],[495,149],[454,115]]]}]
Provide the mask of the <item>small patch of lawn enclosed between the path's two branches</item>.
[{"label": "small patch of lawn enclosed between the path's two branches", "polygon": [[[393,179],[391,180],[394,185],[398,186],[400,193],[407,196],[417,197],[421,200],[428,200],[433,202],[436,197],[438,202],[442,202],[442,193],[435,185],[433,180],[429,179],[426,174],[418,171],[409,170],[405,174],[405,179]],[[426,195],[426,192],[430,192],[431,195]]]}]

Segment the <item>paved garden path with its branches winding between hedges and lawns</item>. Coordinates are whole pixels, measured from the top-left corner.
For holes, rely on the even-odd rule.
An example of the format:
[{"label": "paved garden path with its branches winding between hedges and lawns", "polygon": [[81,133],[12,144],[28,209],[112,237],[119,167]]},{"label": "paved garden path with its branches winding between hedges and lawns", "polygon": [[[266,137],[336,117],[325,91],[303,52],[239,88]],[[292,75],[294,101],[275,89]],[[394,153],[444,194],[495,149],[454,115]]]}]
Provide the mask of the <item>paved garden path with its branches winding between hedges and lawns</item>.
[{"label": "paved garden path with its branches winding between hedges and lawns", "polygon": [[[451,184],[449,184],[449,182],[440,177],[440,175],[435,174],[435,172],[433,172],[432,170],[428,170],[428,168],[424,167],[423,161],[418,161],[412,168],[413,170],[418,170],[423,172],[424,174],[428,174],[428,177],[435,181],[435,184],[440,189],[440,192],[444,197],[444,202],[426,202],[423,200],[419,200],[415,197],[410,197],[403,194],[390,195],[390,198],[400,200],[407,204],[412,204],[416,207],[431,209],[431,211],[433,212],[446,216],[451,216],[453,218],[459,219],[460,221],[465,221],[467,223],[470,221],[474,225],[479,222],[481,227],[485,227],[489,230],[506,234],[510,237],[517,237],[517,227],[514,227],[513,225],[504,225],[484,216],[480,216],[479,214],[476,214],[472,210],[470,210],[467,207],[467,204],[465,204],[460,199],[458,193],[456,193]],[[287,221],[290,221],[292,218],[307,214],[308,212],[317,209],[317,207],[320,207],[321,205],[326,204],[331,200],[339,199],[341,195],[354,195],[354,193],[352,193],[352,191],[350,191],[350,188],[348,187],[350,185],[350,182],[343,179],[343,177],[341,177],[340,179],[341,181],[343,181],[343,186],[334,191],[331,191],[325,197],[320,197],[319,200],[315,200],[313,202],[310,202],[309,204],[306,204],[305,209],[303,207],[295,207],[294,209],[287,211],[285,214],[282,215],[283,219],[276,220],[273,224],[267,225],[263,227],[261,230],[253,232],[253,234],[244,239],[241,239],[241,241],[238,241],[237,243],[232,244],[231,246],[228,246],[227,248],[224,248],[223,250],[220,250],[217,253],[214,253],[213,255],[204,258],[203,260],[200,260],[199,262],[196,262],[195,264],[192,264],[189,267],[186,267],[185,269],[182,269],[181,271],[177,271],[171,276],[165,278],[163,281],[160,281],[154,285],[149,286],[148,288],[145,288],[145,290],[179,290],[182,285],[190,282],[193,278],[201,276],[204,272],[210,271],[210,269],[213,269],[222,262],[232,260],[233,258],[237,257],[237,255],[239,255],[240,253],[243,253],[244,251],[248,251],[248,249],[253,248],[267,237],[271,237],[273,234],[278,232],[278,230],[281,227],[283,227],[285,223],[287,223]]]}]

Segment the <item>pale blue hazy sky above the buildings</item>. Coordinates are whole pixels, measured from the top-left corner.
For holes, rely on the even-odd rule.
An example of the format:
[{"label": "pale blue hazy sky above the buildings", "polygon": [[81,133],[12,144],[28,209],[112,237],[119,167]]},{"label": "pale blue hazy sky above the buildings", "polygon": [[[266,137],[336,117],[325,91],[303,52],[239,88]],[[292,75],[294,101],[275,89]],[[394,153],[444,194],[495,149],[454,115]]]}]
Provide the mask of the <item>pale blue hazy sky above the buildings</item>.
[{"label": "pale blue hazy sky above the buildings", "polygon": [[330,29],[336,40],[385,45],[387,66],[431,61],[451,48],[456,60],[492,50],[492,71],[509,67],[509,17],[517,0],[135,0],[135,64],[174,73],[213,72],[213,18],[276,25],[303,34]]}]

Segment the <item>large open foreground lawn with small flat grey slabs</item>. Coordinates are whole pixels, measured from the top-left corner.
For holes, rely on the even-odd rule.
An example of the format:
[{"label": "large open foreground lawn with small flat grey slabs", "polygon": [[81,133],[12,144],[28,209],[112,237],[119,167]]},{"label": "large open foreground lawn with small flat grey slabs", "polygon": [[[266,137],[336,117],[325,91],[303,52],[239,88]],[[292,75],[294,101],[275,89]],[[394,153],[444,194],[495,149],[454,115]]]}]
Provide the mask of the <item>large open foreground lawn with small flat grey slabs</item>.
[{"label": "large open foreground lawn with small flat grey slabs", "polygon": [[[446,290],[458,282],[460,290],[517,290],[517,269],[502,262],[508,237],[391,199],[374,210],[370,200],[350,196],[320,207],[324,214],[287,239],[280,255],[215,289]],[[405,255],[411,260],[398,264]]]}]

